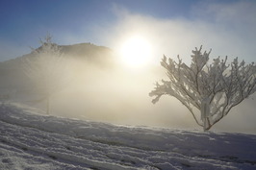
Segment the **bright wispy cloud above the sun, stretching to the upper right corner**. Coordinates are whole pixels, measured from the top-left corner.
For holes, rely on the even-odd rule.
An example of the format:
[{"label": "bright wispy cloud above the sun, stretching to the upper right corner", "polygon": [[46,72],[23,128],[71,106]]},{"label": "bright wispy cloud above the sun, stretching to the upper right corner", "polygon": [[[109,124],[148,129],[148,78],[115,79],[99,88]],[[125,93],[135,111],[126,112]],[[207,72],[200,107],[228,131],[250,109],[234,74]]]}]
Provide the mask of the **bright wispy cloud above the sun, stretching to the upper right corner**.
[{"label": "bright wispy cloud above the sun, stretching to the upper right corner", "polygon": [[245,61],[254,60],[256,44],[256,3],[237,2],[232,4],[202,3],[192,7],[192,18],[155,18],[118,9],[115,13],[119,22],[107,29],[112,47],[125,36],[141,34],[151,38],[155,56],[181,57],[190,61],[191,50],[203,45],[205,50],[213,49],[212,57],[239,57]]}]

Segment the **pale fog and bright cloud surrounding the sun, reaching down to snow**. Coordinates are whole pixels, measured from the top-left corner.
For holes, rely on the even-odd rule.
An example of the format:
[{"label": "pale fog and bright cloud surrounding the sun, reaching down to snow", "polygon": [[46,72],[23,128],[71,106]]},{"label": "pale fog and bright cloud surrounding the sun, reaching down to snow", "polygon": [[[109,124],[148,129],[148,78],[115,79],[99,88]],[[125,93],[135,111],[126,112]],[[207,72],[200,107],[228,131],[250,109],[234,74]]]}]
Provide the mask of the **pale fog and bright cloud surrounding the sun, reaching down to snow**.
[{"label": "pale fog and bright cloud surrounding the sun, reaching down to snow", "polygon": [[[203,50],[212,49],[210,61],[218,56],[228,56],[229,61],[236,57],[239,61],[255,61],[256,5],[250,1],[231,6],[201,3],[192,9],[190,20],[131,13],[116,5],[113,11],[119,18],[115,25],[94,29],[100,44],[116,52],[127,37],[145,36],[153,47],[154,59],[141,69],[125,67],[119,56],[115,56],[115,66],[107,67],[68,60],[63,74],[68,75],[69,82],[52,94],[51,114],[121,125],[200,129],[190,111],[175,98],[164,96],[157,104],[151,103],[148,93],[156,81],[166,79],[159,63],[163,55],[180,55],[190,64],[194,47],[203,45]],[[58,36],[57,33],[55,37]],[[65,41],[68,37],[81,40],[81,35],[62,36]],[[256,94],[245,99],[211,131],[256,134],[255,100]],[[30,105],[41,109],[45,106]]]}]

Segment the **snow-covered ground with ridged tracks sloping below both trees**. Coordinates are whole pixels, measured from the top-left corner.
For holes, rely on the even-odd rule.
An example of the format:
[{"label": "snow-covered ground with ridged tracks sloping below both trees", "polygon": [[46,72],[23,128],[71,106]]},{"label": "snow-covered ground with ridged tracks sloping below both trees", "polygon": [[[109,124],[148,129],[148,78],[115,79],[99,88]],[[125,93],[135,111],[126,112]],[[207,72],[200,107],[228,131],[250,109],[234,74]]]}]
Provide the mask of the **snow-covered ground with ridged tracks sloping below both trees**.
[{"label": "snow-covered ground with ridged tracks sloping below both trees", "polygon": [[115,126],[0,106],[0,169],[256,169],[256,135]]}]

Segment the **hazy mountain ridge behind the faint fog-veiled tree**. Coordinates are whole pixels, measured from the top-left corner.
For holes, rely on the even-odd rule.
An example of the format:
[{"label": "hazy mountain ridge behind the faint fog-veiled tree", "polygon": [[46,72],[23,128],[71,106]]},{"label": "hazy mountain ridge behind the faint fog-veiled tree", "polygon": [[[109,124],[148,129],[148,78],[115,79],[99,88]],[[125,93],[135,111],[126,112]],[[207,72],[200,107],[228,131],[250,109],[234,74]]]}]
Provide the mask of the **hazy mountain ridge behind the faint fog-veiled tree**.
[{"label": "hazy mountain ridge behind the faint fog-veiled tree", "polygon": [[[54,45],[60,47],[64,58],[69,61],[77,61],[84,65],[92,64],[103,69],[109,69],[115,65],[115,53],[108,47],[91,43]],[[35,50],[40,51],[41,46]],[[6,93],[14,96],[13,93],[17,91],[24,93],[29,83],[29,79],[24,73],[24,67],[27,66],[25,61],[33,59],[33,57],[35,57],[35,53],[32,51],[30,54],[16,59],[0,62],[0,96]]]}]

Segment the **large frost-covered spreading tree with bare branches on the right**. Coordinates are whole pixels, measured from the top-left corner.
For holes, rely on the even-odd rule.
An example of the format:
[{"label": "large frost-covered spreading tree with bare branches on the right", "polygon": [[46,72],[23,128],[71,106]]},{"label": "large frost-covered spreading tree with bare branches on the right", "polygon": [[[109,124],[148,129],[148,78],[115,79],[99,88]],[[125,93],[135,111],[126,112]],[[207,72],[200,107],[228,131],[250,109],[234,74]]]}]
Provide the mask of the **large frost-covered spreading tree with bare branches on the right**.
[{"label": "large frost-covered spreading tree with bare branches on the right", "polygon": [[243,99],[256,91],[256,65],[245,64],[238,58],[227,64],[227,57],[218,57],[208,64],[211,51],[201,53],[202,46],[192,51],[192,63],[188,66],[178,56],[178,61],[166,59],[161,64],[166,68],[168,80],[156,83],[149,95],[155,104],[162,95],[178,99],[190,110],[196,123],[204,131],[210,130]]}]

